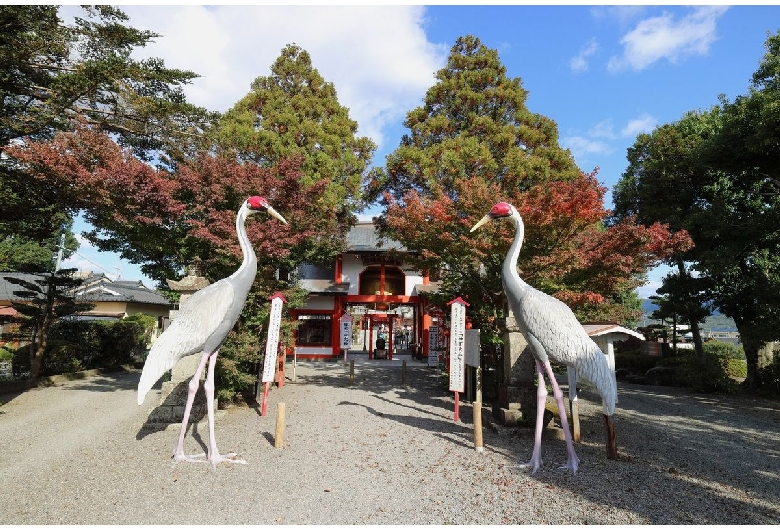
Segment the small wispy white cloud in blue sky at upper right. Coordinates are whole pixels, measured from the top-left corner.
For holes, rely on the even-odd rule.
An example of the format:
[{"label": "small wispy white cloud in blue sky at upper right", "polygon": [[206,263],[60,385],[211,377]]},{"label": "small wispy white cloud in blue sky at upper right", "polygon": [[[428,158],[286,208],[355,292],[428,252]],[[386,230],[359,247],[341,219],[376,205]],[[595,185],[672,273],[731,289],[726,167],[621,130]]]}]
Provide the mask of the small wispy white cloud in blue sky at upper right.
[{"label": "small wispy white cloud in blue sky at upper right", "polygon": [[670,12],[645,19],[621,39],[623,55],[610,58],[607,67],[613,72],[639,71],[661,59],[674,64],[689,56],[706,55],[716,38],[716,22],[727,9],[698,6],[679,21]]}]

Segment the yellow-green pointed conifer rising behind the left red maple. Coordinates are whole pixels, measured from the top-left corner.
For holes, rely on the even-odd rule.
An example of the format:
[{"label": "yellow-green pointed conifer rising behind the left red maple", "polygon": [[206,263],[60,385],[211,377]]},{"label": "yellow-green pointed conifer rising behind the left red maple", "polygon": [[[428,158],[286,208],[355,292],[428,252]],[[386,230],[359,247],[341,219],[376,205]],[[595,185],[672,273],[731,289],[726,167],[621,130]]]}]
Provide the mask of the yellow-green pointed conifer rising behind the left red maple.
[{"label": "yellow-green pointed conifer rising behind the left red maple", "polygon": [[[368,200],[362,185],[376,145],[356,136],[357,128],[309,53],[289,44],[271,65],[271,75],[255,79],[251,91],[225,114],[216,140],[237,160],[260,167],[302,157],[301,186],[327,183],[309,206],[323,214],[323,233],[337,234],[354,223]],[[332,249],[325,250],[312,260],[331,260]]]}]

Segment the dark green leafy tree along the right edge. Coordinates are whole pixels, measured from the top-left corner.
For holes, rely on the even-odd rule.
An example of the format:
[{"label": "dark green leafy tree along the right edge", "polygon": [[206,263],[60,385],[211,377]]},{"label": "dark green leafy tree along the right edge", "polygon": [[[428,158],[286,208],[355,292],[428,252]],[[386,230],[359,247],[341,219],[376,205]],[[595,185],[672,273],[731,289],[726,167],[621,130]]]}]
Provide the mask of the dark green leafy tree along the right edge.
[{"label": "dark green leafy tree along the right edge", "polygon": [[[767,383],[767,345],[780,339],[780,33],[753,75],[750,92],[721,97],[637,139],[615,193],[617,215],[687,229],[696,246],[682,255],[696,289],[665,285],[677,298],[706,300],[731,317],[747,359],[743,387]],[[674,282],[672,282],[674,280]]]}]

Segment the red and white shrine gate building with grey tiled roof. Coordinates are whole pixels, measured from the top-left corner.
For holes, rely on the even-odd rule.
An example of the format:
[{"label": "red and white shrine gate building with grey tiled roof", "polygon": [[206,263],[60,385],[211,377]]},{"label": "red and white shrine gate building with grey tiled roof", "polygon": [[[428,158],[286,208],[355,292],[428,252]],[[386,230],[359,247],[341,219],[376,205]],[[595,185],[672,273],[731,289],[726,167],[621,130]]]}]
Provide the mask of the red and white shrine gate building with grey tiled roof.
[{"label": "red and white shrine gate building with grey tiled roof", "polygon": [[437,283],[404,263],[406,248],[380,239],[372,222],[359,222],[347,235],[348,250],[328,266],[302,265],[298,281],[309,291],[304,307],[291,310],[298,320],[295,353],[299,359],[329,360],[343,353],[340,321],[352,318],[352,353],[369,359],[396,354],[428,355],[428,329],[443,313],[428,307],[426,294]]}]

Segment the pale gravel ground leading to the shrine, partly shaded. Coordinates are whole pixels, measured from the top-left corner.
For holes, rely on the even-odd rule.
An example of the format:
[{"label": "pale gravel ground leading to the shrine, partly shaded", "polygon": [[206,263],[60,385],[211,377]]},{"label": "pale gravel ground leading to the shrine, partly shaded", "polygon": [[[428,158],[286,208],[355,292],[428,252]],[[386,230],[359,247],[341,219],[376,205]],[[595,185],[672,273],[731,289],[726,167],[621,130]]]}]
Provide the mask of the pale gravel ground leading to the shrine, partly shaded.
[{"label": "pale gravel ground leading to the shrine, partly shaded", "polygon": [[[759,399],[619,384],[620,460],[606,459],[595,394],[581,393],[576,475],[558,432],[535,475],[528,429],[473,446],[471,404],[426,367],[299,363],[256,408],[220,411],[223,452],[248,465],[172,464],[178,425],[135,403],[140,372],[0,395],[3,524],[779,524],[780,411]],[[284,448],[274,447],[285,403]],[[205,448],[205,420],[188,452]]]}]

